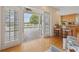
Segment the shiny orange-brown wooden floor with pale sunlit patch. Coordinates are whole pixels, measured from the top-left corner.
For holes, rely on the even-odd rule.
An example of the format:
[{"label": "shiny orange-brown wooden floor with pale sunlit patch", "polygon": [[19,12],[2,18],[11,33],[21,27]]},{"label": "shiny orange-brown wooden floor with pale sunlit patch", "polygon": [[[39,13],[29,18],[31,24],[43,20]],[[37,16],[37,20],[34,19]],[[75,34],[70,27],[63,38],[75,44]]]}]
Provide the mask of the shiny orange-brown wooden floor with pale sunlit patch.
[{"label": "shiny orange-brown wooden floor with pale sunlit patch", "polygon": [[24,42],[12,48],[2,50],[3,52],[42,52],[47,51],[51,44],[62,49],[62,39],[59,37],[40,38],[30,42]]}]

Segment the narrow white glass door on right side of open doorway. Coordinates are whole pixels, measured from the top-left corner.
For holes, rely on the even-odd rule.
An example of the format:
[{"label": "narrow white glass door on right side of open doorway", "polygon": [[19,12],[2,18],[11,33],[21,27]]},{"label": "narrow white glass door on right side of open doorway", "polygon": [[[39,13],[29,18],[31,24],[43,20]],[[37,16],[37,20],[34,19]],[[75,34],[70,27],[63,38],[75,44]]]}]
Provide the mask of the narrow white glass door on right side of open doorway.
[{"label": "narrow white glass door on right side of open doorway", "polygon": [[44,12],[44,37],[50,36],[50,17],[49,13]]}]

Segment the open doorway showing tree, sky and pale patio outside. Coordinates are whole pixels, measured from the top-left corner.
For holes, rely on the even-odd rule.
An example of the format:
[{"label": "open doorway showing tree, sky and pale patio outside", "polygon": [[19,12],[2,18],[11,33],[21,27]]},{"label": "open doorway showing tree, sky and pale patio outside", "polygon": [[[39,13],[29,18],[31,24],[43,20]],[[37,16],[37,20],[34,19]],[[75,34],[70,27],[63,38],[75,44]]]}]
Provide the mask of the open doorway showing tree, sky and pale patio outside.
[{"label": "open doorway showing tree, sky and pale patio outside", "polygon": [[42,37],[41,14],[27,11],[24,12],[24,42]]}]

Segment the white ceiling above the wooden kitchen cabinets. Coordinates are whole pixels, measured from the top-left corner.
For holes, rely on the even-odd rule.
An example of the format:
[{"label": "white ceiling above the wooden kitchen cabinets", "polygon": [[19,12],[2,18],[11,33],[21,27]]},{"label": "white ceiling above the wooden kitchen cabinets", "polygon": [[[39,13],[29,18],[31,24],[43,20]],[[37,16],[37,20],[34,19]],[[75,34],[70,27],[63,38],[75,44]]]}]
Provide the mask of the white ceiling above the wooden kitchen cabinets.
[{"label": "white ceiling above the wooden kitchen cabinets", "polygon": [[79,14],[79,6],[56,6],[56,8],[60,10],[60,15]]}]

